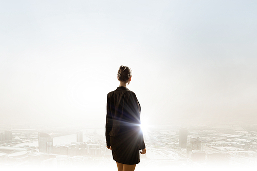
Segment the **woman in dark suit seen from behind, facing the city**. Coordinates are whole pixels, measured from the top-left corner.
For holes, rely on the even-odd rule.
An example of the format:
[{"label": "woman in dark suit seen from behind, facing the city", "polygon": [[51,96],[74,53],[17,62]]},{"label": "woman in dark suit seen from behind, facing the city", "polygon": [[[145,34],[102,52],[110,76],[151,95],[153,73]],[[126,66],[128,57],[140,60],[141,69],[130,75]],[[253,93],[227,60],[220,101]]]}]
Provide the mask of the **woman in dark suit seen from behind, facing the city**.
[{"label": "woman in dark suit seen from behind, facing the city", "polygon": [[136,94],[126,88],[131,82],[129,67],[120,66],[120,86],[107,95],[106,144],[112,150],[118,171],[133,171],[141,154],[146,153],[140,128],[140,104]]}]

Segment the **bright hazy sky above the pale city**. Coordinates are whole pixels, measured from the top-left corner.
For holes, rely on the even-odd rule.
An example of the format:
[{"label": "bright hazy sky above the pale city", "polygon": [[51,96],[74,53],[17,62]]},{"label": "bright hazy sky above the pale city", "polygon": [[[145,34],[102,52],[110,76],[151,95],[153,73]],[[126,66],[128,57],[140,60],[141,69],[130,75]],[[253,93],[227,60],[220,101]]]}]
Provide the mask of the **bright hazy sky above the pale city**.
[{"label": "bright hazy sky above the pale city", "polygon": [[257,121],[256,1],[2,1],[0,124],[105,124],[132,68],[149,124]]}]

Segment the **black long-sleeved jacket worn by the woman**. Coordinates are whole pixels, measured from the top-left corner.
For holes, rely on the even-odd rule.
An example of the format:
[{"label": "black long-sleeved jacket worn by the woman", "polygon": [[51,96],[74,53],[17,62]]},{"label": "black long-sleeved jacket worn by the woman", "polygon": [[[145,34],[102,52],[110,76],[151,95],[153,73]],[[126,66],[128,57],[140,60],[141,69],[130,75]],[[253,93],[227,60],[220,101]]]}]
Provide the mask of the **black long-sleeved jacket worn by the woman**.
[{"label": "black long-sleeved jacket worn by the woman", "polygon": [[136,94],[126,87],[118,87],[107,94],[107,115],[105,137],[111,146],[110,137],[137,136],[139,149],[144,149],[143,134],[140,128],[141,107]]}]

